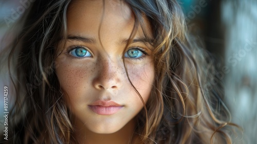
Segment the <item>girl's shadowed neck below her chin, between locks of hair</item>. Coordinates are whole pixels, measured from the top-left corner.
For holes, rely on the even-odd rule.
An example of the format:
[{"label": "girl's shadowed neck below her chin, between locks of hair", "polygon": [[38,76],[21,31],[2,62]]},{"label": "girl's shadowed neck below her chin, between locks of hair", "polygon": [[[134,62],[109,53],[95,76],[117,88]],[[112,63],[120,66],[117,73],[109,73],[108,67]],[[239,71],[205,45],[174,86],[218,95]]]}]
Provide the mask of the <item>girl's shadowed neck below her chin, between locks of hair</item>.
[{"label": "girl's shadowed neck below her chin, between locks of hair", "polygon": [[[136,127],[135,120],[128,122],[122,129],[112,134],[98,134],[92,131],[81,129],[80,124],[75,128],[74,138],[79,143],[89,144],[128,144],[141,143],[140,138],[134,133]],[[79,129],[78,129],[79,128]]]}]

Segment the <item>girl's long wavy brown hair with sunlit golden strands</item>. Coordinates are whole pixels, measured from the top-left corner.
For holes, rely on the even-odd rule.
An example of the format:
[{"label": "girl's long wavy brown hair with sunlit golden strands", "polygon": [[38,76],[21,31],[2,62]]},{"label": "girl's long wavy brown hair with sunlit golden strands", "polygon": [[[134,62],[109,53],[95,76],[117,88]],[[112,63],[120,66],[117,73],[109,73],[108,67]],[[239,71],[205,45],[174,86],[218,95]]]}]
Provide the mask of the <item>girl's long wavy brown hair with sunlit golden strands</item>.
[{"label": "girl's long wavy brown hair with sunlit golden strands", "polygon": [[[76,142],[71,114],[55,73],[59,65],[54,61],[58,42],[67,38],[70,3],[31,3],[19,21],[19,34],[4,49],[9,52],[6,61],[16,92],[9,120],[12,137],[7,143]],[[177,1],[125,3],[135,15],[130,40],[138,25],[144,29],[143,17],[154,35],[155,80],[151,97],[137,116],[135,133],[144,143],[232,143],[229,125],[234,124],[219,97],[219,88],[210,84],[215,80],[213,62],[188,34]]]}]

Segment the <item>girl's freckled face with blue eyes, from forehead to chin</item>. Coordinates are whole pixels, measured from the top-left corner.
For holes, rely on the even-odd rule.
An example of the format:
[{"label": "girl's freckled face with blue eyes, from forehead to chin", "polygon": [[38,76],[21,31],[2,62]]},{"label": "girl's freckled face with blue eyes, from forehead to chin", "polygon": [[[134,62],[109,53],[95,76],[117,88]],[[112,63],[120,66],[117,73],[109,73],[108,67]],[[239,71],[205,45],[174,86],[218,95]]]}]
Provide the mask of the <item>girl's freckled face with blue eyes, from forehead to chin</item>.
[{"label": "girl's freckled face with blue eyes, from forehead to chin", "polygon": [[104,6],[103,1],[70,4],[68,40],[56,60],[56,72],[76,128],[108,134],[125,125],[135,126],[134,117],[143,103],[128,81],[122,57],[145,103],[154,81],[154,65],[148,47],[152,33],[146,20],[150,38],[145,38],[139,26],[125,49],[134,21],[131,9],[121,1],[105,1]]}]

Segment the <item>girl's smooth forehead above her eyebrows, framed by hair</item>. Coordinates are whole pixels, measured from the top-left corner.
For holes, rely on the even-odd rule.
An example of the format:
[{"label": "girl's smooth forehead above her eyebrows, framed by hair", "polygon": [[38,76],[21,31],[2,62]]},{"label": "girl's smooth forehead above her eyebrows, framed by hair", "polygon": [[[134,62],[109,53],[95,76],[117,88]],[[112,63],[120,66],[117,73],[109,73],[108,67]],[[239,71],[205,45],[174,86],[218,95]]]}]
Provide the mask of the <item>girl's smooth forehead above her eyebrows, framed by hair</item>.
[{"label": "girl's smooth forehead above her eyebrows, framed by hair", "polygon": [[117,29],[112,27],[114,23],[119,23],[119,27],[134,24],[133,13],[123,1],[74,1],[67,11],[68,30],[72,32],[98,29],[100,24],[101,28]]}]

